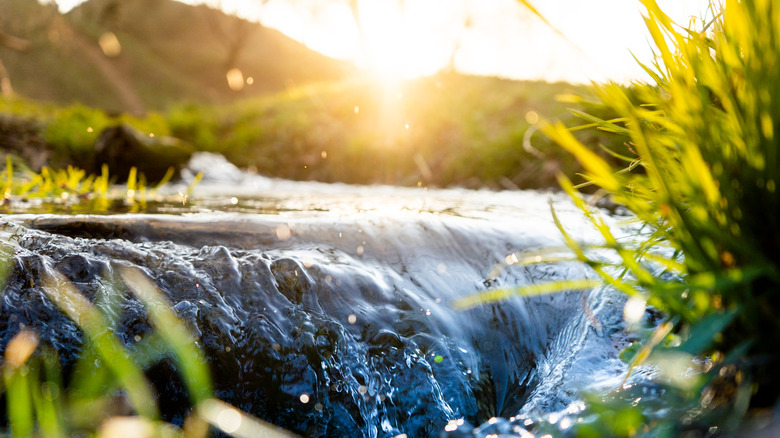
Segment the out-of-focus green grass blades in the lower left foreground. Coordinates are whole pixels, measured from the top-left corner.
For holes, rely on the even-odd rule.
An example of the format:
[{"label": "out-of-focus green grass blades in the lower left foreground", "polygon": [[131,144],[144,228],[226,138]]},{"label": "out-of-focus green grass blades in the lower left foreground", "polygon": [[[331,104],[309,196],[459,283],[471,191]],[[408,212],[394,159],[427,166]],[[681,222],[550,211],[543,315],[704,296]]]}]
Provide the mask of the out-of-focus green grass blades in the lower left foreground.
[{"label": "out-of-focus green grass blades in the lower left foreground", "polygon": [[[2,242],[3,266],[13,263],[11,239]],[[104,273],[107,293],[90,302],[53,269],[42,279],[51,301],[75,321],[85,342],[75,372],[63,382],[57,352],[39,345],[37,334],[21,329],[8,343],[0,364],[12,436],[205,437],[209,428],[237,437],[292,437],[212,396],[210,371],[193,335],[176,317],[163,293],[139,269],[116,266]],[[3,276],[5,277],[5,276]],[[115,335],[123,289],[141,301],[154,331],[125,346]],[[109,309],[101,312],[98,309]],[[112,317],[113,315],[113,317]],[[190,396],[192,409],[182,427],[160,420],[144,369],[170,357]],[[93,435],[95,434],[95,435]]]}]

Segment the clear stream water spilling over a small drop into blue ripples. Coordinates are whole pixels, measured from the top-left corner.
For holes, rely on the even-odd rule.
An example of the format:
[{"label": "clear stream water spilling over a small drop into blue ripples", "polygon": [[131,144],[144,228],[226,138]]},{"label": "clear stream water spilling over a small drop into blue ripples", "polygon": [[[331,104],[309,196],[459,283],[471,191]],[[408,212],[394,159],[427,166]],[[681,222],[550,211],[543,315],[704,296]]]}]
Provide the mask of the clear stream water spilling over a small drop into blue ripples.
[{"label": "clear stream water spilling over a small drop into blue ripples", "polygon": [[[98,303],[105,279],[135,266],[195,333],[216,396],[304,436],[519,434],[522,419],[576,408],[581,391],[625,372],[623,300],[612,291],[453,307],[489,289],[592,275],[561,263],[491,276],[509,254],[563,244],[550,201],[574,235],[592,237],[560,194],[296,183],[198,159],[191,167],[206,177],[186,203],[2,217],[15,247],[0,350],[27,326],[73,363],[82,335],[39,279],[57,270]],[[151,329],[138,301],[121,300],[105,310],[132,346]],[[165,419],[181,423],[187,396],[170,361],[148,375]]]}]

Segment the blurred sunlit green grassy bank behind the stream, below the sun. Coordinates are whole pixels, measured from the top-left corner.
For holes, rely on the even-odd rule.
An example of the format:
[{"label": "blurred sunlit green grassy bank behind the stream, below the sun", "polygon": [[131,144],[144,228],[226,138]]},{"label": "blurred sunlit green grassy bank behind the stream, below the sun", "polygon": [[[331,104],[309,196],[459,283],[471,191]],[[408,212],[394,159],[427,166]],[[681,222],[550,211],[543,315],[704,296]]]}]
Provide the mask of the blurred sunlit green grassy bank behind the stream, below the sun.
[{"label": "blurred sunlit green grassy bank behind the stream, below the sun", "polygon": [[[104,128],[123,123],[273,177],[546,188],[557,184],[558,172],[581,167],[533,124],[540,115],[574,123],[569,109],[587,105],[556,96],[588,92],[569,84],[443,74],[385,86],[367,80],[308,86],[223,106],[179,104],[144,117],[23,99],[0,100],[0,114],[32,121],[27,126],[50,164],[95,173],[95,140]],[[578,138],[599,153],[600,144],[613,141],[593,131]]]}]

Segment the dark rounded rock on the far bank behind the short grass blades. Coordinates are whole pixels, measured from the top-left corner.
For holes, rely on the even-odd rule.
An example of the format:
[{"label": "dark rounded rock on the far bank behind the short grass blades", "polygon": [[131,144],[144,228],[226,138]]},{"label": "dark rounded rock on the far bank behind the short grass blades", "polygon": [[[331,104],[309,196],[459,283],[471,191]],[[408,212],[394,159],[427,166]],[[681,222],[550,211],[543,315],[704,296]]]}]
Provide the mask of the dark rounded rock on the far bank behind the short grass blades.
[{"label": "dark rounded rock on the far bank behind the short grass blades", "polygon": [[193,148],[174,137],[151,137],[128,125],[111,126],[95,141],[95,173],[107,164],[112,175],[125,180],[136,167],[148,182],[160,181],[170,167],[178,174]]}]

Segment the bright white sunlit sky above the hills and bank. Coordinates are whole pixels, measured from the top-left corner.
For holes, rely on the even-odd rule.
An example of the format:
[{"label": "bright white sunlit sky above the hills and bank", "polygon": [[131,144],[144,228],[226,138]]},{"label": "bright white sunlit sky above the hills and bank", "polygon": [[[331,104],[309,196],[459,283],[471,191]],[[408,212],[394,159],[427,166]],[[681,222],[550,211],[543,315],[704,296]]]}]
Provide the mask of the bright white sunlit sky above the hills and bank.
[{"label": "bright white sunlit sky above the hills and bank", "polygon": [[[68,10],[80,1],[57,3]],[[185,2],[221,5],[387,79],[452,66],[514,79],[628,82],[646,78],[632,54],[652,60],[638,0],[531,0],[554,29],[515,0],[360,0],[362,29],[346,0]],[[707,0],[659,4],[683,26],[708,17]]]}]

